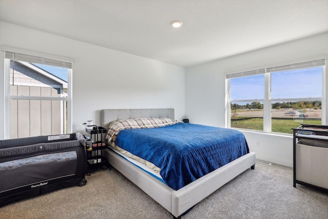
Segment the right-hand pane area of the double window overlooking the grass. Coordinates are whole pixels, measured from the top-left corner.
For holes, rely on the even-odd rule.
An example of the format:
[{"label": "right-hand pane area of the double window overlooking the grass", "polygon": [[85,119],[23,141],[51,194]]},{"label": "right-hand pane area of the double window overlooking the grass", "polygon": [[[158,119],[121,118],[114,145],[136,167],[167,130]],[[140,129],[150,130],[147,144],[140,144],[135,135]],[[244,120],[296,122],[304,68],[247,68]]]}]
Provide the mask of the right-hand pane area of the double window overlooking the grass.
[{"label": "right-hand pane area of the double window overlooking the grass", "polygon": [[321,125],[323,67],[271,72],[271,131]]}]

